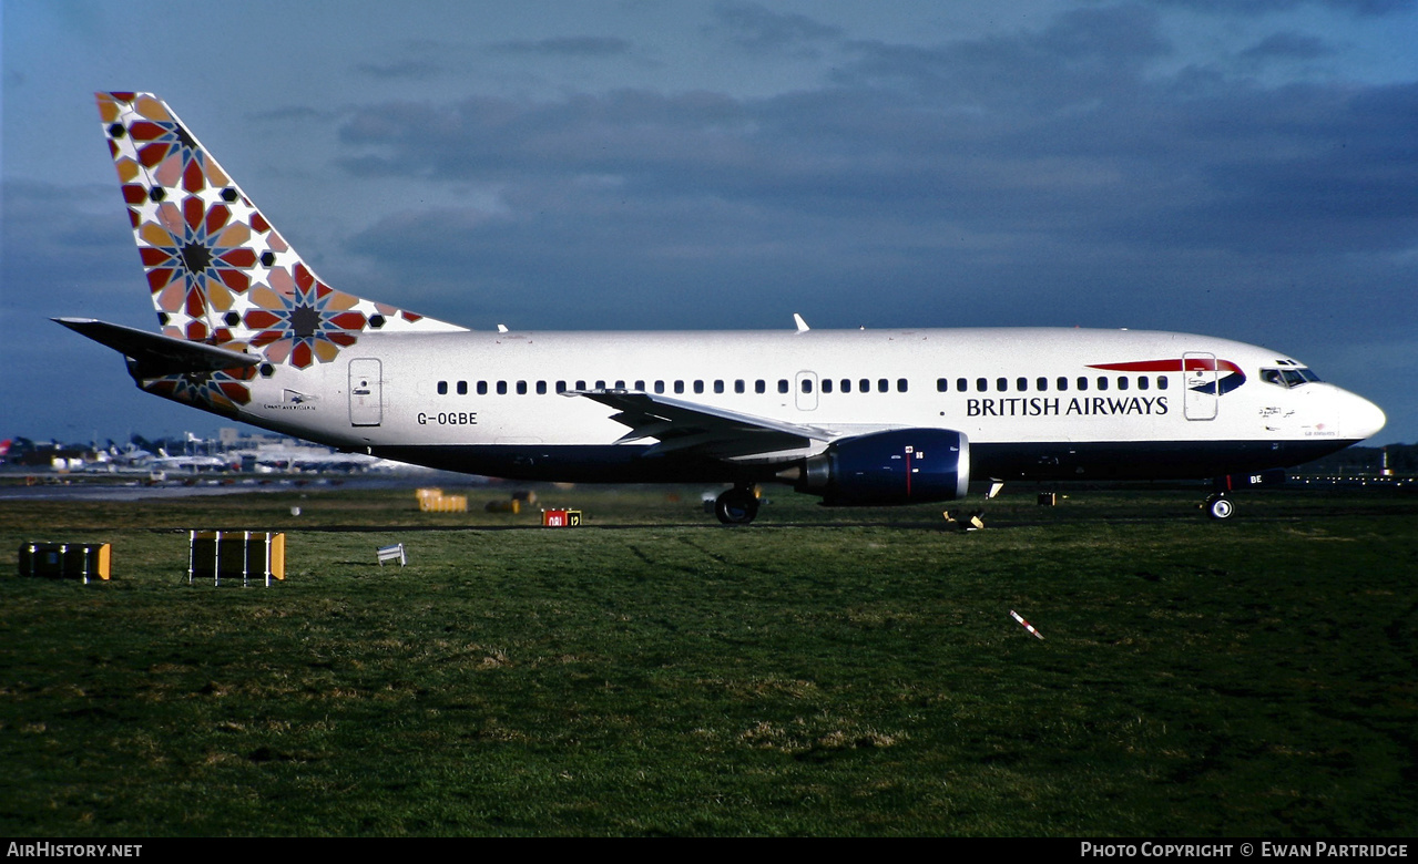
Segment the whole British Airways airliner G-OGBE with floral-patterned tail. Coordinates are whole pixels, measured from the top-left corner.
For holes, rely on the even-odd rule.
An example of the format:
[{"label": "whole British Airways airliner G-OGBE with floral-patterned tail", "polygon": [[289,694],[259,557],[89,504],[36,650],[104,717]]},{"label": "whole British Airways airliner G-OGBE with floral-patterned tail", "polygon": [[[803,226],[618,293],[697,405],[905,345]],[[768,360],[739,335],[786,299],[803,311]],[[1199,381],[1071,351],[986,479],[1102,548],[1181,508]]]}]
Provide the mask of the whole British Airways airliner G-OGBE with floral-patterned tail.
[{"label": "whole British Airways airliner G-OGBE with floral-patterned tail", "polygon": [[[177,115],[98,93],[162,333],[55,319],[138,387],[345,450],[525,480],[705,482],[723,523],[786,482],[824,504],[970,480],[1255,474],[1383,428],[1238,341],[1140,330],[474,331],[328,286]],[[1232,503],[1208,500],[1212,517]]]}]

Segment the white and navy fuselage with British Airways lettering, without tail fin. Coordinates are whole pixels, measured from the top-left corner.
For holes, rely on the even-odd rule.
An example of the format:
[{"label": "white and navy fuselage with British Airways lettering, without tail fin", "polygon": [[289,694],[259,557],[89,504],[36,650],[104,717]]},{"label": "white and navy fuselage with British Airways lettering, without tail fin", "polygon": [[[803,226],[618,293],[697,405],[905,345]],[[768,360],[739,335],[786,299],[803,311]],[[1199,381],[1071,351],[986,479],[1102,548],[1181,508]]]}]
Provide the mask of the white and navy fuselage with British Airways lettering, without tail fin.
[{"label": "white and navy fuselage with British Airways lettering, without tail fin", "polygon": [[[1214,365],[1187,371],[1184,357]],[[994,476],[1258,470],[1340,449],[1383,425],[1377,407],[1337,387],[1262,377],[1290,367],[1299,364],[1256,346],[1133,330],[367,334],[335,363],[258,377],[241,419],[411,462],[455,467],[451,455],[462,452],[476,455],[465,470],[567,480],[607,479],[576,463],[621,462],[627,448],[655,442],[617,443],[627,426],[615,409],[562,391],[644,391],[824,432],[770,462],[881,429],[951,429]],[[557,467],[518,470],[537,449],[562,450]],[[1079,449],[1096,453],[1086,470],[1069,463]],[[1236,465],[1255,469],[1235,457],[1215,466],[1185,457],[1236,449],[1246,455]],[[501,472],[499,453],[508,456]],[[1099,472],[1098,457],[1141,462]]]}]

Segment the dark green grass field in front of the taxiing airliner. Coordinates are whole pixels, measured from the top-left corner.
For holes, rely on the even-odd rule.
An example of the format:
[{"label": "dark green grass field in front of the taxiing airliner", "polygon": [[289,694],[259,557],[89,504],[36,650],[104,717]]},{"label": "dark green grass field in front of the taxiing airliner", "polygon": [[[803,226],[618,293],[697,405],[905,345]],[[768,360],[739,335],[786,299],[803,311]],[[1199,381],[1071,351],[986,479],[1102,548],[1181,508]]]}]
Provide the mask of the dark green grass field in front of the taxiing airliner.
[{"label": "dark green grass field in front of the taxiing airliner", "polygon": [[[1418,829],[1411,494],[1218,524],[1194,491],[1007,490],[964,534],[539,491],[587,525],[408,490],[0,501],[7,554],[108,541],[115,571],[0,576],[0,834]],[[288,531],[288,579],[189,586],[190,527]]]}]

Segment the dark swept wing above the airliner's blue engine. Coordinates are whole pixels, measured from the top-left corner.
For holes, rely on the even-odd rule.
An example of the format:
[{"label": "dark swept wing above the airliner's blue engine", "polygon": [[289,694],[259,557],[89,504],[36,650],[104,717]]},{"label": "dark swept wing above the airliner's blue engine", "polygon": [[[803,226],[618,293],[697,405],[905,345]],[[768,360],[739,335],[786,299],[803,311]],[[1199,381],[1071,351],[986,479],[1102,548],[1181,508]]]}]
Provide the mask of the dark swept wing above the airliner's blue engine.
[{"label": "dark swept wing above the airliner's blue engine", "polygon": [[832,440],[838,432],[800,424],[784,424],[750,414],[710,408],[683,399],[623,390],[581,390],[566,395],[586,397],[615,408],[611,416],[630,432],[615,443],[654,438],[648,456],[693,452],[713,459],[736,459],[780,450],[795,450],[813,440]]}]

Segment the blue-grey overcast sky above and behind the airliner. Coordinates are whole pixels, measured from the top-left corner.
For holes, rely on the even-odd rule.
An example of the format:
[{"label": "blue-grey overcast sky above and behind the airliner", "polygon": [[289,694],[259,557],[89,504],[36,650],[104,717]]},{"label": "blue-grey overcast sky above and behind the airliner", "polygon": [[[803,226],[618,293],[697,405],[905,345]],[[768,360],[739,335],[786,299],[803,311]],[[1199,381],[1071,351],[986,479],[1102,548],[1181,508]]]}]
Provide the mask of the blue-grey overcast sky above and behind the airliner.
[{"label": "blue-grey overcast sky above and behind the airliner", "polygon": [[94,91],[159,93],[330,285],[474,329],[1083,326],[1263,344],[1418,440],[1414,0],[3,0],[0,438],[220,418]]}]

